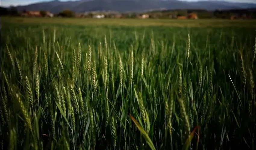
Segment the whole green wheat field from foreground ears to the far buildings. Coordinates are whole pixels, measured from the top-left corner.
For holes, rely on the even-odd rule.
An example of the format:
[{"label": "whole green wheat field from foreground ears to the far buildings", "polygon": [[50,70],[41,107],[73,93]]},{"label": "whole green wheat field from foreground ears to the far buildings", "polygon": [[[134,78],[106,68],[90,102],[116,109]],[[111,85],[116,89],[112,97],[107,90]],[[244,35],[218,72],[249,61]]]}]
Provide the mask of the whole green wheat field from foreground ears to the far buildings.
[{"label": "whole green wheat field from foreground ears to the far buildings", "polygon": [[2,149],[255,149],[255,30],[1,17]]}]

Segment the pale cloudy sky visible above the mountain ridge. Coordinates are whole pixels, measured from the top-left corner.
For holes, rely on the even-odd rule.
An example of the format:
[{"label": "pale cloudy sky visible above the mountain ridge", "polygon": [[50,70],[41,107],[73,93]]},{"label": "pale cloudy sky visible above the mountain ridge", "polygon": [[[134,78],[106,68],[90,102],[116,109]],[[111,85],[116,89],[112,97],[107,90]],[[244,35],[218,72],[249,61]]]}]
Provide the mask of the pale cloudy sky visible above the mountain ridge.
[{"label": "pale cloudy sky visible above the mountain ridge", "polygon": [[[37,2],[42,2],[42,1],[51,1],[51,0],[1,0],[0,3],[1,3],[1,6],[8,7],[10,5],[13,5],[13,6],[27,5],[27,4],[37,3]],[[60,1],[68,1],[68,0],[60,0]],[[198,1],[198,0],[181,0],[181,1]],[[255,0],[225,0],[225,1],[256,3]]]}]

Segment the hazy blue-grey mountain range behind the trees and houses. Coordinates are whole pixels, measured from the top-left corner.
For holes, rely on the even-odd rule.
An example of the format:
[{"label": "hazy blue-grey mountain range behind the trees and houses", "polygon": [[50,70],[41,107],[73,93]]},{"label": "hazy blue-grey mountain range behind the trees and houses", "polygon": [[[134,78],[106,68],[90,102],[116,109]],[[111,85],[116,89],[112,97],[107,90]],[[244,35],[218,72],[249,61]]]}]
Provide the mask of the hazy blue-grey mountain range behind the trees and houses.
[{"label": "hazy blue-grey mountain range behind the trees and houses", "polygon": [[22,10],[48,10],[59,13],[69,9],[77,13],[85,11],[119,11],[142,12],[145,10],[175,10],[175,9],[204,9],[204,10],[228,10],[256,8],[254,3],[235,3],[227,1],[179,1],[179,0],[77,0],[77,1],[44,1],[24,6],[17,6]]}]

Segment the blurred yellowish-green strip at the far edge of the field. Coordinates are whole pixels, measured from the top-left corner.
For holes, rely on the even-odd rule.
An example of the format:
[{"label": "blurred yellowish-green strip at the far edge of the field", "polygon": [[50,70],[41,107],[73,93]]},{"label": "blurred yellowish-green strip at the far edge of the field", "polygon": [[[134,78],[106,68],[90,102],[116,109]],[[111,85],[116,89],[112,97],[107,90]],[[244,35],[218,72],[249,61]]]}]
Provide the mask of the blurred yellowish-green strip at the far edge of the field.
[{"label": "blurred yellowish-green strip at the far edge of the field", "polygon": [[256,27],[256,20],[228,19],[89,19],[1,17],[1,22],[66,25],[176,26],[176,27]]}]

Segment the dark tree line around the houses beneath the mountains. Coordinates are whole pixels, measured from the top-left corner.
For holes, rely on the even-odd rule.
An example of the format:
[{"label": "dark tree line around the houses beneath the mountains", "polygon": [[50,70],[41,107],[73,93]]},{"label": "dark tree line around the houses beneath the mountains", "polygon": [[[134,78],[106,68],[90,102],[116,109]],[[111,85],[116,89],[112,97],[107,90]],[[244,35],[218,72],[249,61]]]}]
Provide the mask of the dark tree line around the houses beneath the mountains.
[{"label": "dark tree line around the houses beneath the mountains", "polygon": [[[23,10],[23,12],[26,10]],[[41,10],[41,16],[45,15],[45,10]],[[187,16],[190,13],[197,14],[198,18],[200,19],[212,19],[212,18],[219,18],[219,19],[230,19],[231,17],[235,16],[236,18],[243,18],[243,19],[256,19],[256,9],[232,9],[232,10],[201,10],[201,9],[184,9],[184,10],[159,10],[159,11],[149,11],[145,13],[120,13],[119,16],[121,18],[137,18],[142,14],[148,14],[149,18],[176,18],[177,16]],[[10,8],[3,8],[1,7],[0,10],[1,16],[20,16],[20,12],[15,7]],[[60,13],[55,14],[54,16],[61,16],[61,17],[84,17],[84,18],[92,18],[95,13],[76,13],[72,10],[63,10]],[[98,12],[98,14],[104,14],[105,18],[113,18],[113,13],[104,13]]]}]

